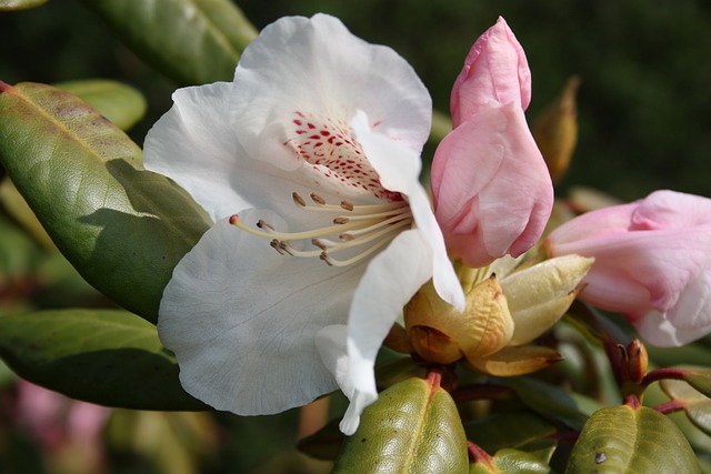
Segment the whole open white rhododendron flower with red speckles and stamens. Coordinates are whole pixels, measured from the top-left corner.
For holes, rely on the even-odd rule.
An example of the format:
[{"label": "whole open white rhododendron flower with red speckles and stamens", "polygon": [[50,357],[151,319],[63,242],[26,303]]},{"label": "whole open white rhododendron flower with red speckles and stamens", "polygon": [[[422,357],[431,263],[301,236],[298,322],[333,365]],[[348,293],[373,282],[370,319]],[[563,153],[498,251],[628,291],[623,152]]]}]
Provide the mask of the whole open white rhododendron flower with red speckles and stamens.
[{"label": "whole open white rhododendron flower with red speckles and stamens", "polygon": [[419,182],[431,100],[390,48],[336,18],[283,18],[231,83],[186,88],[146,140],[146,168],[214,225],[178,264],[158,330],[193,396],[270,414],[341,389],[353,433],[373,363],[429,279],[463,293]]}]

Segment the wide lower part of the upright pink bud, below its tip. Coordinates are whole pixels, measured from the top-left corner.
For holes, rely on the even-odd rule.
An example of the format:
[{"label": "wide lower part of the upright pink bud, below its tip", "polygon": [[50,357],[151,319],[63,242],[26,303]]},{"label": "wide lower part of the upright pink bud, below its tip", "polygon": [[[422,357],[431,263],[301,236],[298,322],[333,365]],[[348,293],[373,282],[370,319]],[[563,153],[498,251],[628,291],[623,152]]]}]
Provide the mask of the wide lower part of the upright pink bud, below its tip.
[{"label": "wide lower part of the upright pink bud, below its tip", "polygon": [[449,133],[431,180],[448,250],[470,266],[530,249],[553,203],[548,168],[514,102],[487,107]]}]

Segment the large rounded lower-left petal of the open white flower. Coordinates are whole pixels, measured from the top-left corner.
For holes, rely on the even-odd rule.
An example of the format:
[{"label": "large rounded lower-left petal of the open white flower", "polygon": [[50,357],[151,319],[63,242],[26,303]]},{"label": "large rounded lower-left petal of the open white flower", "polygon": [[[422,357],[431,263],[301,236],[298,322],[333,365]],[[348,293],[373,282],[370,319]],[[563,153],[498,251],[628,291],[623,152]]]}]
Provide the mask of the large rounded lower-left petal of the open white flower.
[{"label": "large rounded lower-left petal of the open white flower", "polygon": [[336,390],[314,336],[346,323],[364,268],[280,255],[267,240],[218,222],[180,261],[161,301],[159,335],[178,357],[183,387],[242,415],[281,412]]}]

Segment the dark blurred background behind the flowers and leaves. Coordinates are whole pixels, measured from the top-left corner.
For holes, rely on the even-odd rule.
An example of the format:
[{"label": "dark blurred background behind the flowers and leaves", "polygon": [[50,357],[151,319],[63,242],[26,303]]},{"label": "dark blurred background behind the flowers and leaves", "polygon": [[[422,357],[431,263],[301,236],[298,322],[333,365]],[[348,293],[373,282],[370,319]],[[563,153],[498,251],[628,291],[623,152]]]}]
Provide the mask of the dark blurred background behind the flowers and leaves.
[{"label": "dark blurred background behind the flowers and leaves", "polygon": [[[503,16],[533,74],[529,120],[578,74],[580,141],[560,192],[599,188],[624,200],[660,188],[711,195],[711,2],[707,0],[242,0],[261,28],[284,14],[326,11],[358,36],[394,48],[435,108],[471,43]],[[113,78],[141,90],[140,143],[174,89],[76,0],[0,16],[0,80]]]}]

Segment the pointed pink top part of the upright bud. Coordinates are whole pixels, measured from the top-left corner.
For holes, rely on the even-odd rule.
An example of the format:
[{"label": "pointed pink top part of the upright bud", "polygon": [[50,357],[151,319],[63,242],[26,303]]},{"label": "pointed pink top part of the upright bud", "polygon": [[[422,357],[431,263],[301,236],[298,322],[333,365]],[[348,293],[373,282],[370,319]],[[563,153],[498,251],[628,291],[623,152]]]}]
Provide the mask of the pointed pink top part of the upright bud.
[{"label": "pointed pink top part of the upright bud", "polygon": [[450,102],[453,127],[484,107],[514,102],[525,110],[530,101],[531,71],[525,53],[500,17],[471,48],[454,81]]}]

